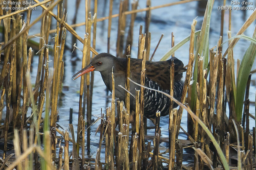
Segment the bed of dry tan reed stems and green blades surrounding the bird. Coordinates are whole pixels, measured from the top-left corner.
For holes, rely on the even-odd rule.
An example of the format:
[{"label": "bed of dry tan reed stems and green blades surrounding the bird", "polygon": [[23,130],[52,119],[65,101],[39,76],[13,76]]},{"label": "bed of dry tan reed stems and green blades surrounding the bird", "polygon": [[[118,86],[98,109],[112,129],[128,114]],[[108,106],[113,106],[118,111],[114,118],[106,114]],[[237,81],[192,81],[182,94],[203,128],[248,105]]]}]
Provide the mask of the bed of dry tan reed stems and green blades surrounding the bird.
[{"label": "bed of dry tan reed stems and green blades surrounding the bird", "polygon": [[[3,154],[0,161],[1,169],[254,169],[256,147],[256,107],[255,116],[249,113],[249,90],[251,83],[251,68],[255,56],[256,28],[251,37],[242,35],[246,28],[256,18],[254,11],[245,21],[235,37],[231,36],[231,11],[229,11],[229,27],[223,30],[224,11],[221,13],[220,39],[215,47],[209,47],[210,18],[214,1],[209,0],[206,6],[201,30],[196,31],[196,19],[192,21],[191,32],[187,38],[175,45],[172,33],[171,49],[161,60],[166,60],[185,42],[190,41],[188,49],[187,71],[184,76],[184,87],[181,100],[174,99],[174,63],[171,70],[170,94],[164,95],[171,99],[169,108],[169,125],[167,139],[161,136],[161,112],[156,112],[154,136],[147,136],[147,119],[144,117],[144,90],[146,77],[146,61],[151,61],[163,38],[158,41],[156,48],[149,58],[151,33],[149,32],[151,11],[171,5],[188,3],[185,0],[159,6],[151,6],[146,1],[146,8],[137,9],[138,1],[131,3],[132,10],[128,11],[128,0],[120,1],[119,13],[112,14],[113,0],[109,1],[108,16],[97,18],[97,0],[94,0],[94,14],[91,14],[91,1],[85,1],[85,22],[69,25],[67,11],[63,9],[60,0],[36,2],[31,7],[42,7],[42,14],[30,22],[31,10],[3,11],[0,10],[0,21],[3,20],[4,42],[1,52],[4,60],[0,75],[0,131],[4,139]],[[78,8],[80,1],[76,3]],[[224,1],[225,5],[226,1]],[[2,5],[1,6],[6,6]],[[17,5],[17,7],[20,7]],[[52,12],[57,8],[57,14]],[[138,35],[137,58],[142,60],[140,74],[140,90],[136,94],[130,93],[131,79],[130,65],[131,47],[133,43],[134,21],[136,13],[146,11],[145,27],[140,26]],[[21,15],[23,12],[24,15]],[[126,16],[131,15],[130,25],[126,26]],[[76,14],[75,14],[76,16]],[[97,22],[108,19],[107,51],[110,48],[112,18],[118,17],[116,56],[126,58],[125,101],[115,98],[115,88],[112,90],[111,106],[106,113],[98,117],[100,138],[96,157],[86,157],[92,151],[91,127],[92,122],[92,93],[94,73],[81,76],[79,90],[77,133],[72,124],[73,109],[70,108],[69,129],[60,130],[57,126],[59,95],[62,91],[64,75],[63,55],[66,48],[67,30],[72,34],[72,42],[79,40],[83,43],[82,67],[88,65],[98,54],[95,50]],[[51,30],[52,20],[56,20],[55,29]],[[33,50],[28,49],[29,29],[41,21],[38,44],[38,66],[36,80],[31,82],[30,68],[33,60]],[[84,38],[75,29],[86,26]],[[93,31],[92,30],[93,26]],[[129,31],[125,33],[125,27]],[[136,30],[137,31],[137,30]],[[228,31],[228,48],[223,50],[223,32]],[[48,45],[51,33],[54,35],[53,46]],[[127,35],[127,37],[125,37]],[[179,35],[176,35],[178,37]],[[235,64],[233,48],[239,38],[251,42],[242,61]],[[92,39],[92,42],[91,42]],[[225,40],[226,41],[226,40]],[[225,43],[224,41],[224,43]],[[124,46],[125,44],[125,46]],[[49,51],[52,48],[53,68],[49,68]],[[91,53],[92,51],[92,53]],[[222,52],[225,51],[222,55]],[[225,58],[227,56],[227,58]],[[249,63],[249,64],[248,64]],[[186,65],[186,64],[185,64]],[[194,68],[194,70],[193,70]],[[136,84],[136,83],[135,83]],[[33,86],[34,85],[34,86]],[[112,71],[112,87],[115,86],[115,75]],[[154,89],[151,89],[154,90]],[[156,91],[156,90],[155,90]],[[130,98],[136,100],[136,111],[133,122],[130,123]],[[255,94],[256,100],[256,94]],[[179,107],[173,108],[176,102]],[[229,114],[226,115],[228,103]],[[6,107],[5,118],[3,108]],[[243,109],[244,107],[244,109]],[[86,112],[85,112],[86,110]],[[116,111],[117,110],[117,114]],[[188,129],[181,127],[182,114],[188,113]],[[43,116],[44,112],[44,116]],[[86,113],[86,115],[85,115]],[[117,115],[117,119],[115,119]],[[11,118],[12,117],[12,118]],[[86,117],[86,120],[84,118]],[[60,115],[61,119],[61,115]],[[250,119],[255,119],[255,125],[250,125]],[[131,124],[131,128],[130,128]],[[250,131],[250,127],[253,130]],[[151,127],[152,128],[152,127]],[[130,133],[131,129],[131,133]],[[180,129],[187,135],[187,140],[179,139]],[[162,129],[164,130],[164,129]],[[86,140],[85,140],[85,131]],[[56,134],[61,135],[58,139]],[[75,136],[76,135],[76,136]],[[9,139],[15,154],[9,154]],[[61,142],[64,141],[64,142]],[[167,143],[165,151],[160,148],[160,142]],[[152,143],[152,144],[151,144]],[[104,146],[105,145],[105,146]],[[86,149],[85,149],[86,146]],[[69,149],[72,148],[72,151]],[[104,150],[105,155],[101,155]],[[193,150],[194,158],[185,164],[184,151]],[[87,151],[87,154],[85,154]],[[231,152],[232,151],[232,152]],[[64,152],[64,153],[63,153]],[[168,156],[166,156],[168,155]],[[104,157],[104,159],[102,159]]]}]

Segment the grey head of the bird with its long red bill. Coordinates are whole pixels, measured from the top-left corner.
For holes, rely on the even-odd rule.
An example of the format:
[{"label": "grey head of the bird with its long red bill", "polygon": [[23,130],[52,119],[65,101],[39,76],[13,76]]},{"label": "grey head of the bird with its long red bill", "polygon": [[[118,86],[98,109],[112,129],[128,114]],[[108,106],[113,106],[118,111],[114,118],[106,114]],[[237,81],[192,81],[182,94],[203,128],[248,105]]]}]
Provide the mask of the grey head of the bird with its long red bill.
[{"label": "grey head of the bird with its long red bill", "polygon": [[[76,78],[82,76],[85,73],[91,72],[91,71],[108,71],[109,69],[112,69],[113,66],[113,55],[110,55],[108,53],[100,53],[96,55],[93,59],[92,62],[84,67],[82,70],[78,71],[76,74],[73,76],[73,80]],[[81,74],[80,74],[81,73]]]}]

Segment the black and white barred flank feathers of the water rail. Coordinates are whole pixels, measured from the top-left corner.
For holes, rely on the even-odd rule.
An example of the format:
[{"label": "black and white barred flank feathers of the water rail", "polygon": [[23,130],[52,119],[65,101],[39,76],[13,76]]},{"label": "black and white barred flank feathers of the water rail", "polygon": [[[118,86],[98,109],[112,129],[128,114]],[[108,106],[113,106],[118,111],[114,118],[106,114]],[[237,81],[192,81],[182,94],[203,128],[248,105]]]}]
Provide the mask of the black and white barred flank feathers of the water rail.
[{"label": "black and white barred flank feathers of the water rail", "polygon": [[[183,85],[184,84],[182,81],[174,82],[173,97],[179,101],[181,99]],[[152,81],[147,77],[145,78],[145,86],[170,94],[170,90],[162,90],[160,85],[158,85],[155,81]],[[178,104],[174,102],[173,107],[177,106]],[[169,107],[169,97],[153,90],[144,89],[144,116],[146,116],[147,118],[154,118],[156,117],[157,110],[161,112],[161,116],[168,115]]]}]

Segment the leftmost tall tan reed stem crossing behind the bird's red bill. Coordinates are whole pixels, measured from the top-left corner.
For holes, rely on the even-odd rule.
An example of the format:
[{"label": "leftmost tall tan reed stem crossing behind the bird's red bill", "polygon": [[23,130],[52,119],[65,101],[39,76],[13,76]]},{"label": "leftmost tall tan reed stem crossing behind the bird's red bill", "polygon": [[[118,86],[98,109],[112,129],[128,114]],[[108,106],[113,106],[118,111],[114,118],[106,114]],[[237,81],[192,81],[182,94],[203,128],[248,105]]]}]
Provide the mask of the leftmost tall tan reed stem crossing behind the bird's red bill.
[{"label": "leftmost tall tan reed stem crossing behind the bird's red bill", "polygon": [[[84,34],[84,47],[83,47],[83,58],[82,58],[82,69],[85,67],[85,61],[86,61],[86,54],[87,54],[87,41],[88,41],[88,34]],[[81,131],[81,120],[80,116],[82,116],[82,100],[83,100],[83,92],[84,92],[84,76],[81,76],[80,80],[80,92],[79,92],[79,108],[78,108],[78,123],[77,123],[77,132]],[[79,152],[79,140],[80,137],[77,134],[76,139],[76,149]]]}]

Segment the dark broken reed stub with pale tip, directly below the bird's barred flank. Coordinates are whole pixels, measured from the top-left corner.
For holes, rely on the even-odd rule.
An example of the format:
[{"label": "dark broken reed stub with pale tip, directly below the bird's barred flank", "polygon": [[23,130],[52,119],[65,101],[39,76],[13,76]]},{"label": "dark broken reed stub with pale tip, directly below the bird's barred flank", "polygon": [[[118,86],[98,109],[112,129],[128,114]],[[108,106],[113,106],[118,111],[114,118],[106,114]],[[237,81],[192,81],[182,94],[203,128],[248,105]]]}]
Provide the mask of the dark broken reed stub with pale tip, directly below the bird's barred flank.
[{"label": "dark broken reed stub with pale tip, directly below the bird's barred flank", "polygon": [[158,152],[159,152],[159,140],[160,140],[160,112],[156,112],[156,129],[154,138],[154,154],[153,154],[153,170],[158,169]]}]

